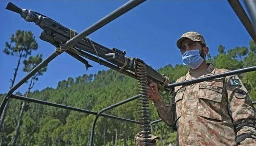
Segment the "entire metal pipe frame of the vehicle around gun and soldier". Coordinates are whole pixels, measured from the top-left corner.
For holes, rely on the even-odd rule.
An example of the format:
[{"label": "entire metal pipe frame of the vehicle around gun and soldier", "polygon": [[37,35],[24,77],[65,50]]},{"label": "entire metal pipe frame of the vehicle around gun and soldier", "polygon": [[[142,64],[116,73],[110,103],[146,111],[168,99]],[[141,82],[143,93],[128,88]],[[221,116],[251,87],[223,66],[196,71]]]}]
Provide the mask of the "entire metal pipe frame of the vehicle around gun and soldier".
[{"label": "entire metal pipe frame of the vehicle around gun and soldier", "polygon": [[[111,12],[109,15],[105,16],[104,18],[102,18],[98,22],[91,25],[86,30],[82,31],[80,34],[76,35],[74,38],[70,39],[69,41],[67,41],[66,43],[61,45],[60,48],[61,49],[67,49],[67,48],[72,47],[80,39],[82,39],[84,37],[87,37],[88,35],[90,35],[94,31],[96,31],[99,28],[105,26],[109,22],[113,21],[114,19],[118,18],[119,16],[128,12],[132,8],[138,6],[139,4],[143,3],[144,1],[146,1],[146,0],[130,0],[129,2],[124,4],[123,6],[117,8],[115,11]],[[255,13],[255,8],[256,8],[255,5],[251,6],[248,1],[246,1],[246,0],[244,1],[245,5],[246,5],[246,8],[249,11],[249,15],[250,15],[251,19],[253,20],[253,23],[252,23],[251,20],[246,15],[244,9],[242,8],[242,6],[241,6],[241,4],[239,3],[238,0],[227,0],[227,1],[229,2],[230,6],[233,8],[234,12],[238,16],[238,18],[240,19],[240,21],[242,22],[244,27],[246,28],[246,30],[248,31],[249,35],[251,35],[253,41],[256,42],[256,34],[255,34],[254,29],[253,29],[254,28],[253,26],[255,26],[255,23],[256,23],[255,22],[256,21],[256,14],[254,14]],[[93,122],[93,125],[91,127],[92,130],[91,130],[91,137],[90,137],[90,146],[92,146],[92,144],[93,144],[94,127],[95,127],[95,123],[97,122],[97,119],[98,119],[99,116],[104,116],[104,117],[107,117],[107,118],[118,119],[118,120],[122,120],[122,121],[125,121],[125,122],[132,122],[132,123],[140,124],[139,122],[134,121],[134,120],[129,120],[129,119],[120,118],[120,117],[116,117],[116,116],[112,116],[112,115],[102,114],[102,112],[104,112],[104,111],[110,110],[114,107],[117,107],[117,106],[122,105],[124,103],[127,103],[129,101],[138,99],[140,97],[140,95],[136,95],[136,96],[133,96],[129,99],[121,101],[119,103],[110,105],[109,107],[106,107],[106,108],[102,109],[99,112],[94,112],[94,111],[89,111],[89,110],[83,110],[83,109],[80,109],[80,108],[70,107],[70,106],[67,106],[67,105],[56,104],[56,103],[51,103],[51,102],[48,102],[48,101],[32,99],[32,98],[29,98],[29,97],[18,96],[18,95],[13,95],[12,94],[22,84],[24,84],[27,80],[29,80],[30,77],[32,77],[35,73],[37,73],[44,66],[46,66],[55,57],[57,57],[57,55],[59,55],[59,54],[57,54],[54,51],[54,53],[49,55],[48,58],[46,58],[44,61],[42,61],[30,73],[28,73],[22,80],[20,80],[14,87],[12,87],[10,89],[10,91],[8,91],[7,95],[4,97],[4,99],[3,99],[3,101],[0,105],[0,114],[2,114],[4,107],[5,107],[6,103],[8,102],[8,99],[13,98],[13,99],[19,99],[19,100],[29,101],[29,102],[33,102],[33,103],[44,104],[44,105],[49,105],[49,106],[53,106],[53,107],[64,108],[64,109],[67,109],[67,110],[73,110],[73,111],[84,112],[84,113],[96,115],[96,117],[94,119],[94,122]],[[230,75],[234,75],[234,74],[238,74],[238,73],[251,72],[251,71],[255,71],[255,70],[256,70],[256,66],[252,66],[252,67],[249,67],[249,68],[233,70],[233,71],[226,72],[226,73],[215,74],[215,75],[211,75],[211,76],[208,76],[208,77],[202,77],[202,78],[197,78],[197,79],[193,79],[193,80],[189,80],[189,81],[182,81],[182,82],[177,82],[177,83],[173,83],[173,84],[168,84],[165,88],[176,87],[176,86],[179,86],[179,85],[193,84],[193,83],[198,83],[198,82],[202,82],[202,81],[212,80],[214,78],[230,76]],[[131,74],[129,74],[129,75],[131,76]],[[253,101],[252,103],[256,104],[256,101]],[[161,119],[155,120],[155,121],[150,123],[150,126],[152,126],[155,123],[161,122],[161,121],[162,121]]]}]

